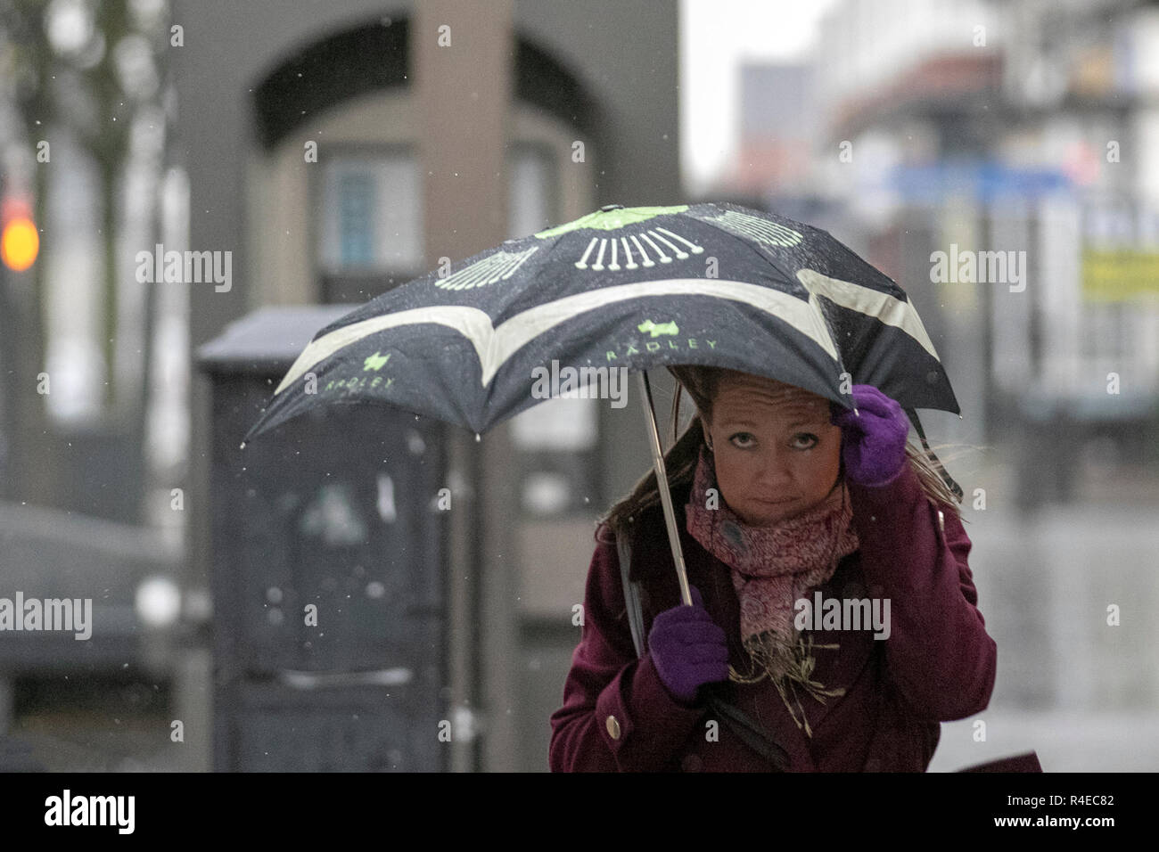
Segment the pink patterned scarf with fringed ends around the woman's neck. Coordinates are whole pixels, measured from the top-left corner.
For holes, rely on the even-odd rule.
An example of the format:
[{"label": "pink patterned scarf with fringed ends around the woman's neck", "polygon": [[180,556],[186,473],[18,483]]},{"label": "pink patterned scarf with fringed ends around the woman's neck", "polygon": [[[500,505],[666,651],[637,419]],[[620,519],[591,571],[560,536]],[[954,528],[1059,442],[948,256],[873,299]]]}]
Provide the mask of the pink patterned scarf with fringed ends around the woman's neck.
[{"label": "pink patterned scarf with fringed ends around the woman's neck", "polygon": [[[716,489],[719,508],[707,508],[709,488]],[[822,702],[844,690],[825,690],[811,679],[811,648],[836,646],[807,646],[793,624],[794,604],[833,576],[837,563],[859,547],[848,489],[843,480],[808,511],[767,526],[745,524],[719,495],[712,458],[701,447],[684,511],[688,533],[731,568],[741,603],[741,638],[752,667],[750,675],[730,667],[730,679],[772,678],[794,721],[811,736],[808,721],[797,720],[789,702],[792,685],[800,684]],[[803,719],[800,701],[796,705]]]}]

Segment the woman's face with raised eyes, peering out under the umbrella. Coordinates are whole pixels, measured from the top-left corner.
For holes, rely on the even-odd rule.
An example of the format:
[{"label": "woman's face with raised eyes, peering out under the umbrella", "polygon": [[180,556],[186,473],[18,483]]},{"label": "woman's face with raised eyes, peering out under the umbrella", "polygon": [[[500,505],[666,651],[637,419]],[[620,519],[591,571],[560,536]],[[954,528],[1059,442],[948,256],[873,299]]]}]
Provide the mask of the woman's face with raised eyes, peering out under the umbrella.
[{"label": "woman's face with raised eyes, peering out under the umbrella", "polygon": [[721,496],[764,526],[817,505],[837,485],[841,430],[829,401],[763,377],[723,380],[709,427]]}]

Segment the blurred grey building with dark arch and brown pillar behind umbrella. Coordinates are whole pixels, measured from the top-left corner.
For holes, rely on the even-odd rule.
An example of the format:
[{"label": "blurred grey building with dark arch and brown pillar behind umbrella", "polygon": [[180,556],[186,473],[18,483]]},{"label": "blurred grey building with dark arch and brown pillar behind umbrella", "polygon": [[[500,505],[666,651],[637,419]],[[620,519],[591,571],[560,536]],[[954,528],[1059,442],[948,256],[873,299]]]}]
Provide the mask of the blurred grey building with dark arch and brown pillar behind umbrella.
[{"label": "blurred grey building with dark arch and brown pillar behind umbrella", "polygon": [[[190,245],[246,258],[228,298],[194,293],[194,345],[257,306],[360,303],[604,203],[679,197],[673,2],[226,6],[176,7],[239,57],[177,71]],[[194,459],[212,430],[199,400],[195,388]],[[451,476],[474,510],[460,532],[480,561],[460,552],[449,568],[481,580],[451,594],[480,596],[483,622],[469,605],[452,617],[453,709],[486,731],[480,769],[546,766],[592,517],[643,473],[641,423],[635,407],[559,400],[458,449]],[[198,582],[213,547],[205,517],[194,524]]]}]

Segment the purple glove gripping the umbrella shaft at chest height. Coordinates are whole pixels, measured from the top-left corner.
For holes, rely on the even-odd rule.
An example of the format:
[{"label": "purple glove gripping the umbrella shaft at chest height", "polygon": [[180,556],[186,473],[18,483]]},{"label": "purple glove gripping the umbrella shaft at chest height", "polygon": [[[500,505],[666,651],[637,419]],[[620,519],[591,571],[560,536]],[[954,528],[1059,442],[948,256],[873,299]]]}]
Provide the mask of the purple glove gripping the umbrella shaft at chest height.
[{"label": "purple glove gripping the umbrella shaft at chest height", "polygon": [[693,605],[680,604],[656,616],[648,653],[664,687],[677,701],[692,704],[701,684],[728,679],[728,639],[705,610],[697,587]]}]

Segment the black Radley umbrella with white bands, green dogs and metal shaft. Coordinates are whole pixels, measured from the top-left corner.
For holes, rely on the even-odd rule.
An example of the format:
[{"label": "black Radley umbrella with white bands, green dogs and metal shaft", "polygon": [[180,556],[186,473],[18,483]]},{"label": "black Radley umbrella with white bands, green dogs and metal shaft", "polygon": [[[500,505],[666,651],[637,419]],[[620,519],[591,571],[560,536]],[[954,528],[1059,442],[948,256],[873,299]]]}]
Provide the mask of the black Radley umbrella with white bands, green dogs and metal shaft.
[{"label": "black Radley umbrella with white bands, green dogs and metal shaft", "polygon": [[[958,414],[905,292],[828,232],[735,204],[608,205],[386,292],[321,329],[246,442],[319,406],[387,403],[476,437],[560,391],[639,371],[657,482],[668,482],[648,367],[765,376],[852,408],[852,386]],[[692,603],[668,488],[680,592]]]}]

